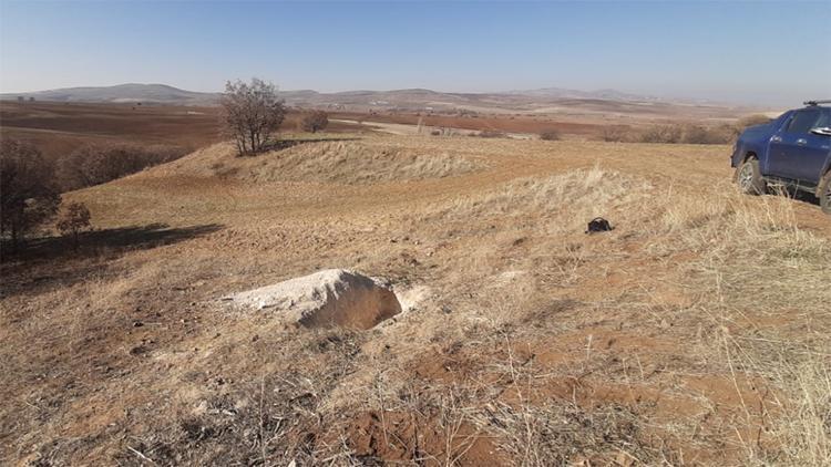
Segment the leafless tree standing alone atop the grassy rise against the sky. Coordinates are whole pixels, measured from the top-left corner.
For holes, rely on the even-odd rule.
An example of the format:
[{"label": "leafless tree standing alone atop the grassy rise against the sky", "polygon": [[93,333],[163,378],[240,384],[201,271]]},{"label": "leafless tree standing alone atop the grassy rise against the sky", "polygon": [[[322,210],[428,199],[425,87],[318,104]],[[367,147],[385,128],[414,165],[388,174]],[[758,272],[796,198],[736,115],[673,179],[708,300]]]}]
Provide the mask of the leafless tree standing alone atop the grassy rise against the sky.
[{"label": "leafless tree standing alone atop the grassy rise against the sky", "polygon": [[240,155],[261,152],[286,117],[275,85],[256,77],[250,83],[228,81],[222,105],[225,129]]}]

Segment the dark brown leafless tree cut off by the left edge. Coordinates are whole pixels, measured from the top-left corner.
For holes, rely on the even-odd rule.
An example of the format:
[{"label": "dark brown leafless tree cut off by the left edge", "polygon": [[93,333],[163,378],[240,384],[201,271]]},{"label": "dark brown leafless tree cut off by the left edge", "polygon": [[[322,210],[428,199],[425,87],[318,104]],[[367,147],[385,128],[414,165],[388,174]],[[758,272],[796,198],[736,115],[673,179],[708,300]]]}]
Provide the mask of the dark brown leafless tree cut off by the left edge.
[{"label": "dark brown leafless tree cut off by the left edge", "polygon": [[0,143],[0,234],[12,246],[54,216],[61,197],[52,166],[34,146],[14,139]]}]

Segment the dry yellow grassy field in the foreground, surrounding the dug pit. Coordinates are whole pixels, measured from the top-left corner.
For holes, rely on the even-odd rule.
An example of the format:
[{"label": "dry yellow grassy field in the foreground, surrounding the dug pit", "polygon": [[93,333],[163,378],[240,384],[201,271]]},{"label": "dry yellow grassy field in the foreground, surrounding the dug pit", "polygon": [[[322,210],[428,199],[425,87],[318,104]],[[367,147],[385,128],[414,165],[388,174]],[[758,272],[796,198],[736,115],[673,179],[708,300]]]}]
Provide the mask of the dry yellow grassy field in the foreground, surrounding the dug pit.
[{"label": "dry yellow grassy field in the foreground, surrounding the dug pit", "polygon": [[[831,460],[831,218],[739,195],[729,146],[340,131],[64,194],[81,251],[0,266],[0,464]],[[409,307],[308,330],[222,300],[330,268]]]}]

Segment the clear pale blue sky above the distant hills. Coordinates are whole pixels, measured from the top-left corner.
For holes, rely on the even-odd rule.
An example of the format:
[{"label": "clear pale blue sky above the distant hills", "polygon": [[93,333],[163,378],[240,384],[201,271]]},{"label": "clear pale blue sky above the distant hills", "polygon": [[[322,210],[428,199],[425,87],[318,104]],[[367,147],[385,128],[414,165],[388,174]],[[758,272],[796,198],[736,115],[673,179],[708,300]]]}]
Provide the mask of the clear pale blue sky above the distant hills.
[{"label": "clear pale blue sky above the distant hills", "polygon": [[821,2],[0,0],[0,90],[536,87],[759,104],[831,98]]}]

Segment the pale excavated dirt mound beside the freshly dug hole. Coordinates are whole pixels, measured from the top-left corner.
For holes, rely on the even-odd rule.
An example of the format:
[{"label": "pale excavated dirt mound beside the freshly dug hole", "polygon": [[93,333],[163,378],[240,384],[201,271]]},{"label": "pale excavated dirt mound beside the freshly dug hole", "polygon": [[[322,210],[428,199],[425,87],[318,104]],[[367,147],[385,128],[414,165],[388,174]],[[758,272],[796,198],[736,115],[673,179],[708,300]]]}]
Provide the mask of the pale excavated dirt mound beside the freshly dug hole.
[{"label": "pale excavated dirt mound beside the freshly dug hole", "polygon": [[230,299],[243,308],[280,310],[286,319],[307,328],[366,330],[401,312],[392,290],[345,269],[328,269]]}]

